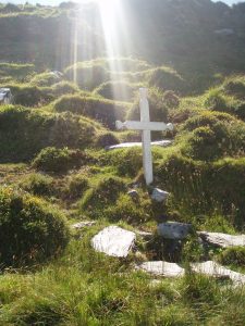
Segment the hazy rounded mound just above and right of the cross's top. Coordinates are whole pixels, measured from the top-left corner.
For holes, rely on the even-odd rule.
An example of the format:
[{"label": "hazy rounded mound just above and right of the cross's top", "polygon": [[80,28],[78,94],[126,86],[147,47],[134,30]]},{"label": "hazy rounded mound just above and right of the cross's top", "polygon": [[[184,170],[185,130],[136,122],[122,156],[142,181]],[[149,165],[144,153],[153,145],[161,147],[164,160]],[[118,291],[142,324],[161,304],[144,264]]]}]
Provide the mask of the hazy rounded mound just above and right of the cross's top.
[{"label": "hazy rounded mound just above and right of the cross's top", "polygon": [[150,87],[158,87],[161,90],[183,92],[185,89],[183,78],[174,70],[164,66],[149,71],[148,83]]}]

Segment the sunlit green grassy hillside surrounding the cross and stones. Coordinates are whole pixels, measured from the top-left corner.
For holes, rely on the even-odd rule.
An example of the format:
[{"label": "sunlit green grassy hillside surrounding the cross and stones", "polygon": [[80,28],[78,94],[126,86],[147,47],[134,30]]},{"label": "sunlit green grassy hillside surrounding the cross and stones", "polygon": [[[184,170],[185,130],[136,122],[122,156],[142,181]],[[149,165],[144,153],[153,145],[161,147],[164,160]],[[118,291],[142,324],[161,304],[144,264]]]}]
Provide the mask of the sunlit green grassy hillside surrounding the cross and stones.
[{"label": "sunlit green grassy hillside surrounding the cross and stones", "polygon": [[[244,5],[124,5],[132,41],[119,57],[107,55],[95,4],[0,5],[0,87],[13,95],[0,105],[1,325],[245,323],[244,287],[191,271],[212,260],[245,274],[244,247],[198,237],[245,231]],[[228,27],[234,34],[213,33]],[[149,89],[151,120],[174,124],[152,133],[172,145],[152,149],[151,187],[140,148],[105,150],[140,141],[136,131],[115,130],[117,120],[139,118],[139,87]],[[152,187],[168,200],[154,201]],[[95,224],[72,227],[85,221]],[[192,224],[192,233],[163,239],[157,225],[166,221]],[[109,225],[137,234],[127,258],[91,248]],[[135,268],[156,260],[180,264],[185,276]]]}]

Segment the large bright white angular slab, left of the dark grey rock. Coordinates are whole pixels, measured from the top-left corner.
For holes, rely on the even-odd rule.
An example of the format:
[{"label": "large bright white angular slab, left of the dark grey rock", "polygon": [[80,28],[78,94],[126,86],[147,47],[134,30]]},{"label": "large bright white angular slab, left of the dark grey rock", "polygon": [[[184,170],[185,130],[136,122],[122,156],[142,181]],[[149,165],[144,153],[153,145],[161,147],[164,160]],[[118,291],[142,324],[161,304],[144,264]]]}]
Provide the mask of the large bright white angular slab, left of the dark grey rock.
[{"label": "large bright white angular slab, left of the dark grey rock", "polygon": [[126,258],[134,246],[135,239],[135,233],[118,226],[109,226],[91,239],[91,246],[96,251],[108,255]]}]

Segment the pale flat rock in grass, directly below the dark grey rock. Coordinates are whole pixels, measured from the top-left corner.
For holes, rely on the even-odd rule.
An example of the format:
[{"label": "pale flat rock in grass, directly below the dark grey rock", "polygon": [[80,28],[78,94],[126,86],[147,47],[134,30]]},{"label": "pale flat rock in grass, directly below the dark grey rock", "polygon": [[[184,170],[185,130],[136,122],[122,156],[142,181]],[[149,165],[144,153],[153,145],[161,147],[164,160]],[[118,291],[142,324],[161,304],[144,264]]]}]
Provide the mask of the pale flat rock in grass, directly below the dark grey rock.
[{"label": "pale flat rock in grass, directly below the dark grey rock", "polygon": [[185,274],[184,268],[174,263],[167,262],[145,262],[138,266],[138,269],[164,277],[180,277]]}]

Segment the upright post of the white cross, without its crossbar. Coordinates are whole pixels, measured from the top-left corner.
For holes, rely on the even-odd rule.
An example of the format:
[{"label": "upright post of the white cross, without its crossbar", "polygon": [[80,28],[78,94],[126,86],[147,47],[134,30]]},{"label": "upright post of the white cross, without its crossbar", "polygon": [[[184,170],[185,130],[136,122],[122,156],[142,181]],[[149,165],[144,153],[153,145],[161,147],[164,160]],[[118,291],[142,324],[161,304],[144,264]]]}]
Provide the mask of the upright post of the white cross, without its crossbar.
[{"label": "upright post of the white cross, without its crossbar", "polygon": [[[149,123],[149,103],[148,91],[146,88],[139,89],[139,108],[140,108],[140,122]],[[143,164],[146,184],[150,185],[154,181],[154,167],[152,167],[152,154],[151,154],[151,137],[150,129],[142,131],[142,145],[143,145]]]}]

